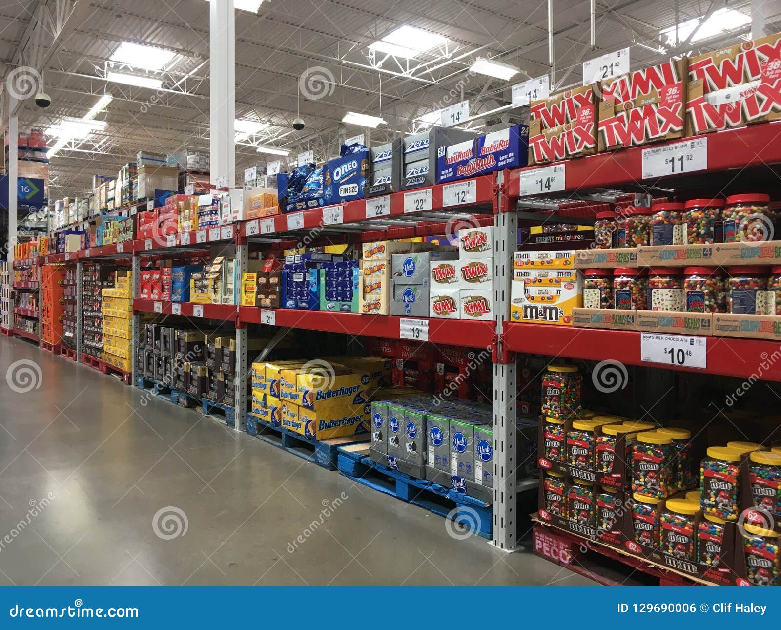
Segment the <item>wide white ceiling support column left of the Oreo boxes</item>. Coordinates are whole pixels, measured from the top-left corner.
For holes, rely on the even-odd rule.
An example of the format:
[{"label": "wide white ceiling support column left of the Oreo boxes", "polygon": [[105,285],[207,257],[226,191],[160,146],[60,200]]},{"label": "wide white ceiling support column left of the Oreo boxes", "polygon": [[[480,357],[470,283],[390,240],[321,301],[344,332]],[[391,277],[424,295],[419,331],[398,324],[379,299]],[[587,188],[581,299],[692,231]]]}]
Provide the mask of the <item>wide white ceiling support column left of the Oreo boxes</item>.
[{"label": "wide white ceiling support column left of the Oreo boxes", "polygon": [[236,23],[234,0],[209,2],[209,145],[212,184],[236,182]]}]

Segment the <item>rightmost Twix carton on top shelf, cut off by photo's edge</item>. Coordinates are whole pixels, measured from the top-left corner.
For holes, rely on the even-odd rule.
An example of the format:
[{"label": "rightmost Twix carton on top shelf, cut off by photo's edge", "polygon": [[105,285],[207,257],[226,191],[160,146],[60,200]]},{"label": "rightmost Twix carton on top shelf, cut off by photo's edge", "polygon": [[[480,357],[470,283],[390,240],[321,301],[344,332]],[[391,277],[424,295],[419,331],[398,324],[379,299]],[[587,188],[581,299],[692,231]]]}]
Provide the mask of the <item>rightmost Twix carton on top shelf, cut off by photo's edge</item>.
[{"label": "rightmost Twix carton on top shelf, cut off by photo's edge", "polygon": [[689,59],[686,135],[781,119],[781,34]]}]

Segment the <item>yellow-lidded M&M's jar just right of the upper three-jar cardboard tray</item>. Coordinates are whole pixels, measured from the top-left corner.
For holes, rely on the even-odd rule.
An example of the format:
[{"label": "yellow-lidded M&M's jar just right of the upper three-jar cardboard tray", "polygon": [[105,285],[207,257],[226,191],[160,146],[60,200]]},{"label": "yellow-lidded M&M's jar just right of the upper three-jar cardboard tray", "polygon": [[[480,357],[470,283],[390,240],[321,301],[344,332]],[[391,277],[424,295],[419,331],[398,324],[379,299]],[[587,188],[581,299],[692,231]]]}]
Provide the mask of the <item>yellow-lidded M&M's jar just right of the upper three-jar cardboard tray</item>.
[{"label": "yellow-lidded M&M's jar just right of the upper three-jar cardboard tray", "polygon": [[654,499],[671,495],[673,453],[669,435],[656,431],[638,433],[637,444],[632,447],[632,492]]}]

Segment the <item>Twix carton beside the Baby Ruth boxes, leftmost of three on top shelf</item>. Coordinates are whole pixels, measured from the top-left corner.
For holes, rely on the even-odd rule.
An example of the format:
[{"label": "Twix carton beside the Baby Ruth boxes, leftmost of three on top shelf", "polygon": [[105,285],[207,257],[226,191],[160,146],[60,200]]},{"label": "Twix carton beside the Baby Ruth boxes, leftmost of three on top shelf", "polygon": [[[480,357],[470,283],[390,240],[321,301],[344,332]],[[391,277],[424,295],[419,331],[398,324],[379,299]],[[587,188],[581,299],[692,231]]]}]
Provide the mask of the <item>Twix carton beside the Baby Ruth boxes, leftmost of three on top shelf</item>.
[{"label": "Twix carton beside the Baby Ruth boxes, leftmost of three on top shelf", "polygon": [[529,164],[597,152],[597,96],[591,85],[532,101]]}]

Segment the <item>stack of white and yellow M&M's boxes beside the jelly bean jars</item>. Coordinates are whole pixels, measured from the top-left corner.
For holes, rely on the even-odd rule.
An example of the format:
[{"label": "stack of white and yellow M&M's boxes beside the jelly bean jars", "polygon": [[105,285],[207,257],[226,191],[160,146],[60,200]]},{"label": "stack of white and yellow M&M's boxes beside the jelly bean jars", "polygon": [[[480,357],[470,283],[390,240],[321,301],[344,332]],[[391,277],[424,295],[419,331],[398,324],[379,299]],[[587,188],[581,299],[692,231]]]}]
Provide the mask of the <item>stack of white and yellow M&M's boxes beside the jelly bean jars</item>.
[{"label": "stack of white and yellow M&M's boxes beside the jelly bean jars", "polygon": [[574,249],[515,252],[512,267],[512,321],[572,325],[572,309],[583,306]]}]

